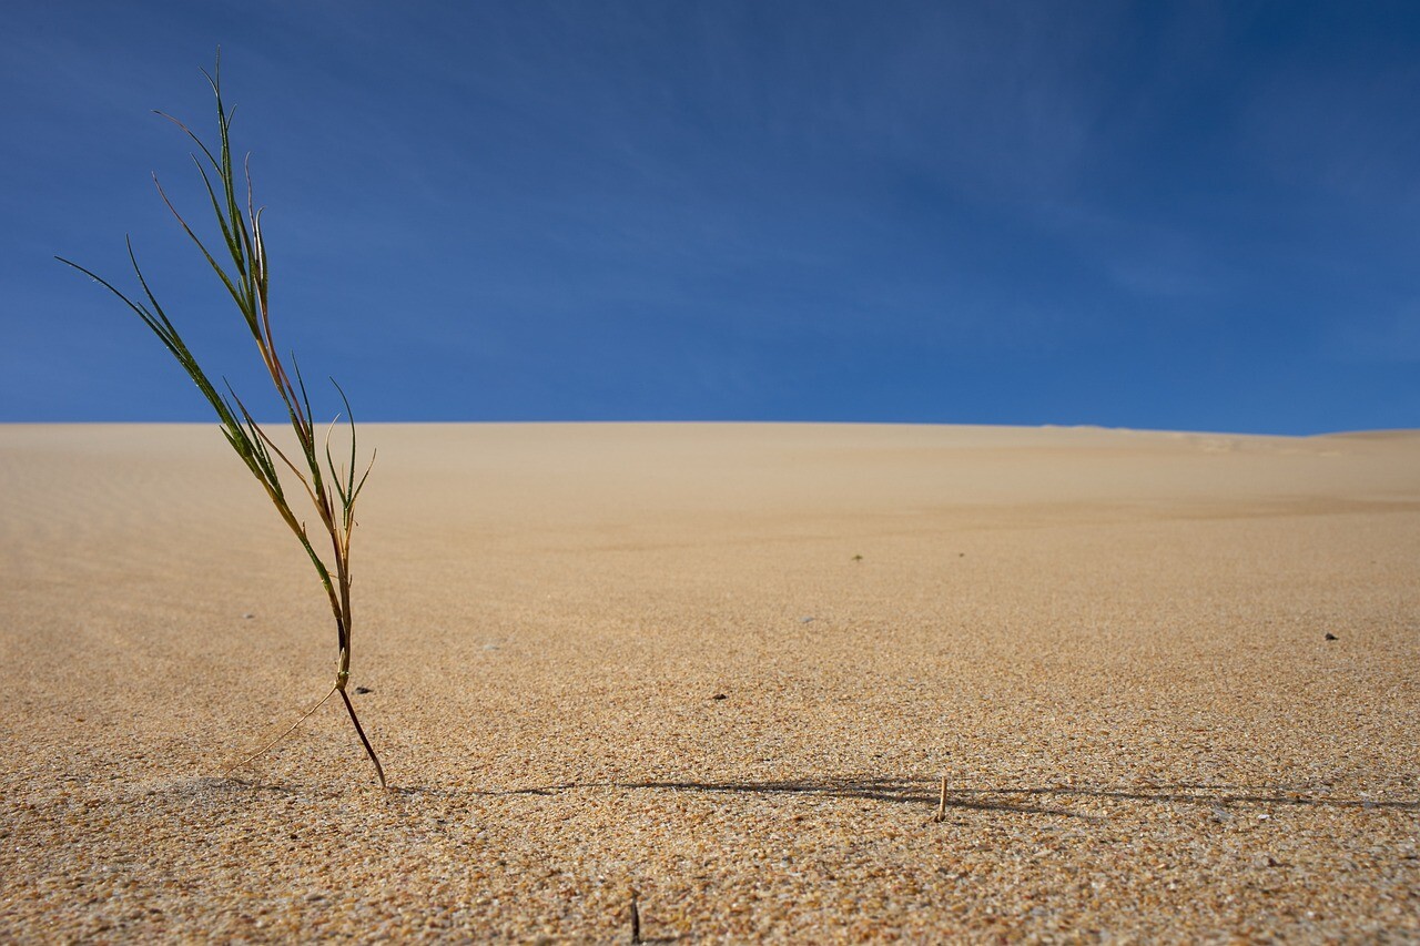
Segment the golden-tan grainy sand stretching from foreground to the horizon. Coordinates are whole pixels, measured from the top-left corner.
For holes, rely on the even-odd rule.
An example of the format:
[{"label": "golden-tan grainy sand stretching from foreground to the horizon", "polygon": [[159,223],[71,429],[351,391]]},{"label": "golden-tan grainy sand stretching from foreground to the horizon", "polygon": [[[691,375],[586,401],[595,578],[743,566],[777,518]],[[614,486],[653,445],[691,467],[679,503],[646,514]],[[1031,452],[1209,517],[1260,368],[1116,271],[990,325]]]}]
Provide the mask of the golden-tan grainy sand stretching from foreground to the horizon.
[{"label": "golden-tan grainy sand stretching from foreground to the horizon", "polygon": [[364,440],[388,793],[222,776],[335,635],[214,426],[0,426],[0,940],[1420,937],[1420,433]]}]

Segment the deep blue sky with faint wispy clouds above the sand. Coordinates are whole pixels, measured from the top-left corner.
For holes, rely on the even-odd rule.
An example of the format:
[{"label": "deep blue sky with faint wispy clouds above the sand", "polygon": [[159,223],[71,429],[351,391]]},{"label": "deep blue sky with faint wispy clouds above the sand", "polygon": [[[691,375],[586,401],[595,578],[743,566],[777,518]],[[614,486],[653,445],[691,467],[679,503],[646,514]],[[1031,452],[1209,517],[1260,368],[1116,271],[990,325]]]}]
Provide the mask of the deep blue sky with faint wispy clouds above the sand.
[{"label": "deep blue sky with faint wispy clouds above the sand", "polygon": [[1420,6],[1245,0],[11,4],[0,420],[206,419],[125,233],[260,391],[149,179],[219,43],[365,420],[1420,426]]}]

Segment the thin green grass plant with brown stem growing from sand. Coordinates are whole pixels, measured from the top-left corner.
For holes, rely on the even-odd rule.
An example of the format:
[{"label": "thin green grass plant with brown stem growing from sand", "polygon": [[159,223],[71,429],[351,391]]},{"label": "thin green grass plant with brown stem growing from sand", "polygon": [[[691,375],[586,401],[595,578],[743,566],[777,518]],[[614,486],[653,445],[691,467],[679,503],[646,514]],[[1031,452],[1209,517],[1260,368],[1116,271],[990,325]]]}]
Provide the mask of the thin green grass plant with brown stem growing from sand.
[{"label": "thin green grass plant with brown stem growing from sand", "polygon": [[[351,703],[349,693],[345,692],[351,676],[351,533],[355,528],[355,500],[359,499],[375,457],[371,455],[371,462],[365,466],[364,474],[359,474],[359,479],[356,479],[355,419],[351,416],[349,399],[332,378],[331,384],[335,385],[335,391],[345,406],[345,418],[351,432],[349,464],[345,466],[342,463],[337,467],[335,459],[331,455],[331,433],[335,430],[339,416],[337,415],[335,420],[331,422],[324,437],[318,436],[311,419],[311,401],[305,391],[305,382],[301,379],[295,355],[290,357],[290,371],[287,371],[285,364],[277,355],[275,341],[271,335],[271,312],[267,304],[268,270],[266,244],[261,239],[261,210],[256,207],[253,200],[250,156],[243,162],[239,186],[230,142],[231,115],[234,109],[229,109],[223,104],[220,67],[222,58],[219,54],[216,68],[213,68],[212,74],[203,71],[217,102],[219,146],[216,153],[176,118],[166,112],[156,114],[178,125],[197,145],[197,152],[192,155],[192,159],[202,175],[203,185],[206,185],[207,196],[212,199],[212,209],[222,230],[223,247],[231,260],[230,268],[224,268],[213,253],[207,250],[203,240],[187,226],[183,216],[173,207],[172,200],[168,199],[162,185],[158,183],[156,175],[153,176],[153,183],[158,186],[158,193],[163,203],[178,219],[187,237],[202,251],[202,256],[241,311],[241,317],[253,339],[256,339],[267,375],[270,375],[271,384],[275,386],[275,392],[285,408],[287,419],[291,422],[291,429],[295,432],[300,462],[293,462],[288,453],[277,446],[275,440],[256,422],[251,412],[247,411],[247,406],[230,385],[226,385],[230,399],[217,391],[207,372],[197,364],[196,357],[187,348],[178,328],[169,321],[166,312],[163,312],[152,290],[149,290],[148,280],[138,266],[132,240],[128,240],[128,259],[132,263],[133,273],[138,276],[138,284],[142,287],[146,304],[143,301],[133,301],[129,295],[78,263],[62,257],[57,259],[92,277],[122,300],[158,335],[172,357],[178,359],[178,364],[182,365],[187,376],[197,385],[197,389],[207,399],[207,403],[212,405],[212,409],[216,411],[217,419],[222,422],[222,433],[227,437],[227,443],[241,457],[251,476],[261,483],[267,499],[271,500],[281,520],[295,535],[297,541],[301,543],[305,554],[310,555],[311,564],[315,567],[315,574],[321,578],[321,587],[329,598],[331,612],[335,616],[335,638],[339,648],[335,683],[288,730],[271,740],[260,751],[246,757],[239,766],[233,766],[233,768],[244,766],[268,751],[278,741],[290,736],[315,710],[324,706],[327,700],[339,693],[341,700],[345,703],[345,710],[349,713],[351,723],[355,726],[355,733],[365,747],[365,754],[375,764],[375,774],[379,776],[379,784],[385,785],[385,770],[379,764],[379,757],[369,744],[364,727],[359,724],[359,717],[355,714],[355,706]],[[305,523],[291,509],[291,499],[281,482],[281,466],[295,474],[307,499],[315,506],[321,530],[324,531],[324,534],[318,534],[317,540],[311,538]],[[322,558],[314,545],[314,541],[324,543],[327,538],[329,540],[328,560]]]}]

